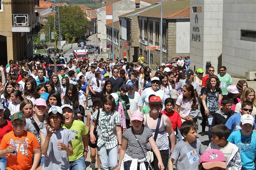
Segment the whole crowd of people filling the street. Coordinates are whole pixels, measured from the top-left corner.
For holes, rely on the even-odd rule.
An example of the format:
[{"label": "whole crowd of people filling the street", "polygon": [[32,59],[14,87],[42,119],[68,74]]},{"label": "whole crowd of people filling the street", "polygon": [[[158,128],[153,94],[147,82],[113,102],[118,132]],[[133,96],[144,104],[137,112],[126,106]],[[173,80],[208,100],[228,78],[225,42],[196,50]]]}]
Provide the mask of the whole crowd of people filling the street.
[{"label": "whole crowd of people filling the street", "polygon": [[66,62],[58,75],[43,57],[0,67],[0,169],[81,170],[89,149],[90,170],[255,169],[255,91],[225,66]]}]

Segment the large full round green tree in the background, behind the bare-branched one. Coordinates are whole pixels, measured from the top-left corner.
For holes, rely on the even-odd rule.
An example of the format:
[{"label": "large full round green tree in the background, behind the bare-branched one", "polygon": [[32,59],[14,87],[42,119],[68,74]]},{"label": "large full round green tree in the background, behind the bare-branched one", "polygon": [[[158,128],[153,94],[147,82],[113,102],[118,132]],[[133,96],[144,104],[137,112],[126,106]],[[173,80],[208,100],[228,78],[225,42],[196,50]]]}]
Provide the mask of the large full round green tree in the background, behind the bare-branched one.
[{"label": "large full round green tree in the background, behind the bare-branched one", "polygon": [[69,5],[60,7],[60,29],[62,36],[68,34],[68,38],[82,37],[89,26],[86,13],[79,6]]}]

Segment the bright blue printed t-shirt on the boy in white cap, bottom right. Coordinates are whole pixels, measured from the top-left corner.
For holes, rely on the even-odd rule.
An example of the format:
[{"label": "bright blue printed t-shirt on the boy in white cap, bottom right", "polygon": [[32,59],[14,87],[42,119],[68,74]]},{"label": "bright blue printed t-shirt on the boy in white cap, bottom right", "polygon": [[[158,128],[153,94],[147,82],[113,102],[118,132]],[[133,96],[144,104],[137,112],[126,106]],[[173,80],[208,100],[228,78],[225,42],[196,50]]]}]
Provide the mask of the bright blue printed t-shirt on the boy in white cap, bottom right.
[{"label": "bright blue printed t-shirt on the boy in white cap, bottom right", "polygon": [[240,130],[230,134],[228,141],[240,148],[241,163],[246,169],[254,169],[256,133],[244,136]]}]

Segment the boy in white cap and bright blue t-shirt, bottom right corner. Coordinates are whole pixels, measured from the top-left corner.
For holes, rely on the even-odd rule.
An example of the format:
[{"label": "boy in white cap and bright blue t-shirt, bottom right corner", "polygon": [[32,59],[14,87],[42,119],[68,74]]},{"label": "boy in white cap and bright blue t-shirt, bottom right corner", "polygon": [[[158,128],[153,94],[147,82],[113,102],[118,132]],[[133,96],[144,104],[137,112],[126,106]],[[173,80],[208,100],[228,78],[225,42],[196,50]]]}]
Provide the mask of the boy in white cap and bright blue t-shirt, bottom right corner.
[{"label": "boy in white cap and bright blue t-shirt, bottom right corner", "polygon": [[240,119],[241,130],[230,134],[228,141],[240,148],[241,163],[246,169],[255,169],[256,133],[252,131],[255,120],[244,114]]}]

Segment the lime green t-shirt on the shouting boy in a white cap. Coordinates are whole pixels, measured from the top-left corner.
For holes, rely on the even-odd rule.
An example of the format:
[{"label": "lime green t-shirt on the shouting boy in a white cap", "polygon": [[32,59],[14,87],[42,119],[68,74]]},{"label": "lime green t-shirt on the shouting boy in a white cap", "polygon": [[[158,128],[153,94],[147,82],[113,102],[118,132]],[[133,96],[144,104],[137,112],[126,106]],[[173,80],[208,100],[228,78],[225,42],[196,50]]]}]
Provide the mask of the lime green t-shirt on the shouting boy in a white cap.
[{"label": "lime green t-shirt on the shouting boy in a white cap", "polygon": [[84,156],[82,136],[87,135],[88,130],[86,129],[84,122],[78,120],[73,120],[69,125],[64,124],[63,128],[69,129],[75,134],[74,138],[71,140],[74,154],[68,156],[69,161],[75,161]]}]

